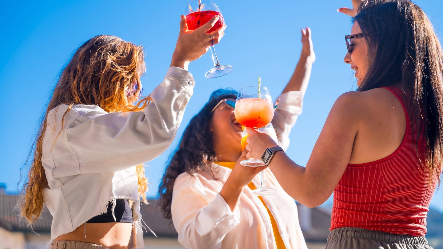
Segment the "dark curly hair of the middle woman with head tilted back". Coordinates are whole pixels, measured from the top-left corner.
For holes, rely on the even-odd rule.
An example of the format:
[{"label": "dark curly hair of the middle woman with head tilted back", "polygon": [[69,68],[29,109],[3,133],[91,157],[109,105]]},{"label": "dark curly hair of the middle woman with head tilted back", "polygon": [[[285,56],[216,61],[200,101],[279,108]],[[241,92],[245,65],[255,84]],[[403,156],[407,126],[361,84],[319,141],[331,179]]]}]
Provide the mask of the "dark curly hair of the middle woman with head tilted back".
[{"label": "dark curly hair of the middle woman with head tilted back", "polygon": [[213,170],[212,163],[216,160],[216,155],[210,130],[211,110],[225,98],[236,99],[237,91],[218,89],[211,93],[209,101],[190,120],[183,132],[179,147],[172,156],[159,187],[159,205],[164,218],[171,218],[172,190],[177,176],[183,172],[194,175],[208,167]]}]

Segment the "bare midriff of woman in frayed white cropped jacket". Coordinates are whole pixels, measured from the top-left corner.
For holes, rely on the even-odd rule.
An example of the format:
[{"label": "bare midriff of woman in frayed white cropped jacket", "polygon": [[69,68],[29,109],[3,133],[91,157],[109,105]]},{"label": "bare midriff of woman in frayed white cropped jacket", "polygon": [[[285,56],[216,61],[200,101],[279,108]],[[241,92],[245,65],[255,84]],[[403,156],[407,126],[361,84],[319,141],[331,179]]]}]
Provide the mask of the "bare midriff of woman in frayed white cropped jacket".
[{"label": "bare midriff of woman in frayed white cropped jacket", "polygon": [[80,241],[103,245],[111,249],[126,249],[131,238],[132,223],[84,223],[76,230],[55,238],[54,241]]}]

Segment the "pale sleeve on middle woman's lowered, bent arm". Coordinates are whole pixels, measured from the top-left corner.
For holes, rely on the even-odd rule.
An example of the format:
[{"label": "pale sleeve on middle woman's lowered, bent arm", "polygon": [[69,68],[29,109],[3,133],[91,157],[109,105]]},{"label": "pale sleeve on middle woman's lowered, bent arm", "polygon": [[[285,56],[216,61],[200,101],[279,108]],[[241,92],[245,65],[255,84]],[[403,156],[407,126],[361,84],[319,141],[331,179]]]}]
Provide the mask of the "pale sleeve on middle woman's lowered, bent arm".
[{"label": "pale sleeve on middle woman's lowered, bent arm", "polygon": [[[179,242],[187,248],[221,248],[225,235],[239,224],[239,212],[232,212],[219,193],[208,200],[205,188],[189,179],[174,184],[171,213]],[[212,191],[209,196],[214,197]]]}]

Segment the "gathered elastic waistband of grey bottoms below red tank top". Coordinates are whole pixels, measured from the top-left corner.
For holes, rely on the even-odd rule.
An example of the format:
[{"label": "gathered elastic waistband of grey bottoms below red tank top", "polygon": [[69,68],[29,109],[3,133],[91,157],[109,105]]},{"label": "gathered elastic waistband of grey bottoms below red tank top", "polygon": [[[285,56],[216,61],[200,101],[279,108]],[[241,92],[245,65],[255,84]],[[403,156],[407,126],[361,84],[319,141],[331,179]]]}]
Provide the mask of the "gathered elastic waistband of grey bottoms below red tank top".
[{"label": "gathered elastic waistband of grey bottoms below red tank top", "polygon": [[328,236],[328,242],[341,238],[362,238],[388,243],[401,243],[406,245],[427,245],[423,236],[409,234],[386,233],[377,230],[369,230],[358,227],[340,227],[332,230]]}]

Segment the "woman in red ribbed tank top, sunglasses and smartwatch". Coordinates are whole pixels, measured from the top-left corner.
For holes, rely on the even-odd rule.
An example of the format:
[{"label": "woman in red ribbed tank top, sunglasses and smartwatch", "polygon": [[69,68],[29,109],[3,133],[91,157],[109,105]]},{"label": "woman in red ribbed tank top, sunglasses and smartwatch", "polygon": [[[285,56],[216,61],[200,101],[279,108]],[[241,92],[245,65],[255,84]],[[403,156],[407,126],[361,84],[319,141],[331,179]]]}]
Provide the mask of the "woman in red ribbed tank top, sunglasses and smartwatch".
[{"label": "woman in red ribbed tank top, sunglasses and smartwatch", "polygon": [[252,128],[247,156],[266,160],[303,205],[334,192],[327,249],[431,248],[424,235],[442,172],[442,48],[409,0],[353,5],[341,12],[357,10],[344,60],[358,90],[334,103],[306,167],[267,149],[275,142]]}]

